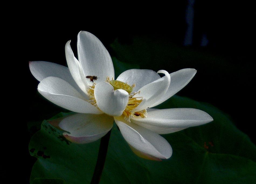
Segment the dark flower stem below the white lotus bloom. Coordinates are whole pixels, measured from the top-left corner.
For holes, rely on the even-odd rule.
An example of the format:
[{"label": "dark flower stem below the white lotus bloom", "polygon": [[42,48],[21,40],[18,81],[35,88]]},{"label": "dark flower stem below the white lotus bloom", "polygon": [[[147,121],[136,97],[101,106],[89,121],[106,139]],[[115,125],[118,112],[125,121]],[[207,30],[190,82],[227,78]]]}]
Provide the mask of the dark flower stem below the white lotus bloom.
[{"label": "dark flower stem below the white lotus bloom", "polygon": [[91,184],[99,183],[101,179],[101,174],[103,171],[103,167],[104,167],[104,163],[105,163],[106,155],[108,151],[108,142],[110,138],[110,133],[111,133],[111,130],[101,138],[98,158],[97,158],[96,166],[94,169],[94,174],[92,176]]}]

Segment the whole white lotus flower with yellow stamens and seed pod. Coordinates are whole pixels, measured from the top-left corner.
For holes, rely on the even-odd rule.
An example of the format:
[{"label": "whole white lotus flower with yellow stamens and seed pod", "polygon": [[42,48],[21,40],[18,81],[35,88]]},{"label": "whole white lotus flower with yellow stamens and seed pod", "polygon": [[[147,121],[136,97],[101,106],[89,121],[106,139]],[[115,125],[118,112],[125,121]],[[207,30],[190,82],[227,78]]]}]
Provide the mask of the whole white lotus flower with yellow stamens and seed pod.
[{"label": "whole white lotus flower with yellow stamens and seed pod", "polygon": [[[116,80],[111,57],[93,34],[81,31],[78,60],[65,46],[68,67],[50,62],[30,62],[30,71],[40,81],[38,91],[46,99],[77,112],[62,120],[63,135],[76,143],[89,143],[106,135],[115,121],[124,139],[137,155],[167,159],[172,148],[159,134],[169,134],[212,121],[198,109],[151,109],[181,90],[196,74],[186,68],[169,74],[165,70],[131,69]],[[165,74],[160,77],[158,73]],[[97,76],[87,77],[87,76]],[[91,81],[92,78],[93,80]]]}]

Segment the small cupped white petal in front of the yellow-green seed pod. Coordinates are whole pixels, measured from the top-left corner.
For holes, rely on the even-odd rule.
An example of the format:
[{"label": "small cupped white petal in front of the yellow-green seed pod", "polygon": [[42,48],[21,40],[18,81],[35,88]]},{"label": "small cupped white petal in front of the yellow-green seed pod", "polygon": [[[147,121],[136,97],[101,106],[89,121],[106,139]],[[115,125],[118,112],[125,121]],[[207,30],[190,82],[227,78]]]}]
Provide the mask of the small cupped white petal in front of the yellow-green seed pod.
[{"label": "small cupped white petal in front of the yellow-green seed pod", "polygon": [[129,98],[127,91],[114,90],[107,82],[96,84],[94,95],[99,109],[110,116],[121,116]]}]

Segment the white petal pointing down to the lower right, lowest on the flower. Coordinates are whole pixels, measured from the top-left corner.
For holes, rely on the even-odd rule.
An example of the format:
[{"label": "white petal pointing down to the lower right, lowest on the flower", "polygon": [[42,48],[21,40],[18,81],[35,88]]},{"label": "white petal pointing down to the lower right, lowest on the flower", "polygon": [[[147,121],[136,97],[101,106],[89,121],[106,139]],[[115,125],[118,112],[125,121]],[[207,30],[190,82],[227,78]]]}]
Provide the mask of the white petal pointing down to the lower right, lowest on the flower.
[{"label": "white petal pointing down to the lower right, lowest on the flower", "polygon": [[163,137],[134,123],[124,123],[120,121],[120,117],[118,118],[115,117],[115,122],[129,145],[153,157],[162,159],[171,157],[172,148]]}]

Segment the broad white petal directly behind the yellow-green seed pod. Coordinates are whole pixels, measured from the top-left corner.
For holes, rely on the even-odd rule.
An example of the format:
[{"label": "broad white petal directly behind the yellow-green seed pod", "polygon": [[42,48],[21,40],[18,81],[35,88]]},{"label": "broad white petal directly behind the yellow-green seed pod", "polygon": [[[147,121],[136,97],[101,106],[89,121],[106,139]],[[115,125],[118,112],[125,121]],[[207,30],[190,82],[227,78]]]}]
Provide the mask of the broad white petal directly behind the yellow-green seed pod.
[{"label": "broad white petal directly behind the yellow-green seed pod", "polygon": [[137,92],[143,86],[158,79],[160,76],[153,70],[131,69],[121,73],[116,80],[127,82],[129,85],[135,84],[133,92]]}]

